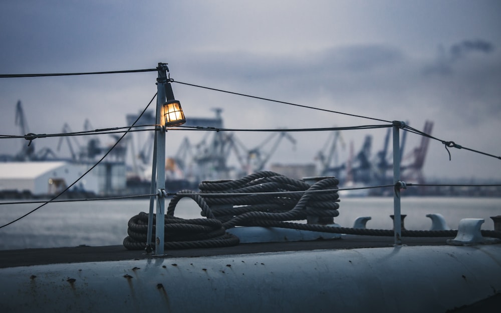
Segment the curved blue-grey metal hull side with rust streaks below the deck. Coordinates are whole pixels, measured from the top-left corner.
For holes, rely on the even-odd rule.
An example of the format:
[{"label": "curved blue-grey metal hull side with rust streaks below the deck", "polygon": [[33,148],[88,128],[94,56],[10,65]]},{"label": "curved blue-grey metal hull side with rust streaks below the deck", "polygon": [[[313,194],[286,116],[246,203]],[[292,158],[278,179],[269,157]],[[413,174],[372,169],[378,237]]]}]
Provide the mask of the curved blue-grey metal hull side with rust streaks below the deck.
[{"label": "curved blue-grey metal hull side with rust streaks below the deck", "polygon": [[3,312],[443,312],[501,290],[501,247],[399,246],[0,269]]}]

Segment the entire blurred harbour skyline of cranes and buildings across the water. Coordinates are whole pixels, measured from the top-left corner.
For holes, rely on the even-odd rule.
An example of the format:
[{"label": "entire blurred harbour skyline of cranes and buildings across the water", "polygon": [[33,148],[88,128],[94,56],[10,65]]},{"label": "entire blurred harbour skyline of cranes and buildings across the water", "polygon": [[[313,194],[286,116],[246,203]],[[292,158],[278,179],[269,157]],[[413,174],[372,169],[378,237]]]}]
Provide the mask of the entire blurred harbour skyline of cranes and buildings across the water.
[{"label": "entire blurred harbour skyline of cranes and buildings across the water", "polygon": [[[223,128],[222,110],[214,109],[213,118],[189,118],[185,126]],[[131,125],[138,114],[126,116],[127,124]],[[27,118],[21,101],[16,105],[16,125],[20,134],[29,134]],[[146,111],[138,120],[137,125],[154,125],[155,116],[152,111]],[[144,126],[146,127],[146,126]],[[426,121],[424,133],[431,134],[433,122]],[[90,121],[84,123],[85,131],[94,130]],[[61,133],[73,132],[65,123]],[[401,137],[401,178],[408,183],[425,183],[422,168],[428,151],[429,138],[423,136],[420,144],[404,153],[406,134]],[[56,152],[48,147],[35,149],[39,142],[28,144],[23,139],[20,150],[12,155],[0,155],[0,197],[17,195],[39,195],[58,193],[73,183],[85,173],[104,153],[111,144],[103,145],[103,135],[60,137]],[[116,135],[108,135],[109,142],[115,143]],[[95,195],[120,195],[149,193],[151,184],[151,165],[153,150],[152,132],[134,132],[122,140],[101,163],[82,181],[73,186],[72,192],[86,192]],[[312,162],[303,164],[270,163],[278,146],[287,141],[295,147],[296,140],[285,130],[272,133],[255,147],[247,148],[232,132],[207,131],[198,143],[192,143],[188,137],[173,155],[166,159],[166,188],[174,192],[181,189],[197,190],[198,183],[204,180],[235,179],[261,170],[272,170],[291,178],[309,176],[336,176],[340,188],[363,188],[392,184],[392,158],[389,151],[390,129],[384,138],[383,146],[372,154],[372,136],[365,136],[357,152],[354,143],[349,145],[343,139],[341,131],[332,131],[327,142],[320,151],[312,156]],[[85,143],[81,143],[85,141]],[[61,157],[62,146],[66,144],[69,157]],[[348,158],[340,161],[339,152],[349,147]],[[314,159],[314,160],[313,160]],[[316,163],[315,163],[316,162]],[[231,164],[230,164],[231,163]],[[318,166],[317,166],[318,164]],[[27,166],[31,166],[27,170]],[[20,174],[23,173],[23,174]],[[413,188],[413,191],[419,190]],[[450,188],[428,187],[427,194],[453,194]],[[419,191],[418,191],[419,192]],[[424,192],[424,190],[423,190]],[[478,190],[461,190],[463,194],[498,195],[499,190],[478,188]],[[387,195],[388,188],[359,189],[352,193],[341,195]]]}]

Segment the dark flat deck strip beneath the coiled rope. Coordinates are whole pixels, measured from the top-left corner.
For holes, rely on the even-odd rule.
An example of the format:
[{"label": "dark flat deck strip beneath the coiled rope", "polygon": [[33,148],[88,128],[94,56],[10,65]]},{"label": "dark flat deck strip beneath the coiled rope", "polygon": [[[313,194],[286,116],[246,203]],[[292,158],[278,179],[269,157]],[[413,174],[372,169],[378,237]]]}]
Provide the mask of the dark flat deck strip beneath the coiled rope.
[{"label": "dark flat deck strip beneath the coiled rope", "polygon": [[[446,239],[450,239],[450,237],[404,237],[402,243],[408,246],[438,246],[445,245]],[[347,235],[341,239],[329,240],[240,243],[231,247],[166,250],[165,255],[162,257],[206,257],[318,249],[378,248],[393,246],[393,240],[393,237]],[[145,254],[142,250],[127,250],[123,245],[0,250],[0,268],[58,263],[121,261],[151,257],[158,256]]]}]

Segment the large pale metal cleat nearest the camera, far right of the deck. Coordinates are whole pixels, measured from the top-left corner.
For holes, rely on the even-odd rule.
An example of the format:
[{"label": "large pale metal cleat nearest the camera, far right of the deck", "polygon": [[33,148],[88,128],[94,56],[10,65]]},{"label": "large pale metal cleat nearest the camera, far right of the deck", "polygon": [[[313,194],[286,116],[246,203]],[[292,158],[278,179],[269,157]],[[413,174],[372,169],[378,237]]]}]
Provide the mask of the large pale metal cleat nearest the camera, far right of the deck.
[{"label": "large pale metal cleat nearest the camera, far right of the deck", "polygon": [[447,239],[447,244],[451,245],[472,245],[482,243],[498,243],[497,238],[483,237],[480,226],[485,220],[483,218],[463,218],[459,221],[457,235],[454,239]]}]

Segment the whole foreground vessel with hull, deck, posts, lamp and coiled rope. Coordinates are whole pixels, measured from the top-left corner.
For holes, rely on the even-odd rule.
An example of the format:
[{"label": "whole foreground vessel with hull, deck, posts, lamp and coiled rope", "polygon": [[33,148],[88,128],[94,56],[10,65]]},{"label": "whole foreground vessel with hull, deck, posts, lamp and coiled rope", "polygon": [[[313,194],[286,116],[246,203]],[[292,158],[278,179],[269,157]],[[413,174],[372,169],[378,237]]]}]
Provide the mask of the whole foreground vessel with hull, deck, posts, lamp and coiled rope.
[{"label": "whole foreground vessel with hull, deck, posts, lamp and coiled rope", "polygon": [[[173,107],[177,103],[172,100],[168,69],[159,64],[155,70],[159,73],[157,112],[165,110],[170,114],[162,106],[165,101],[166,105],[174,104]],[[175,112],[174,115],[179,114],[179,110]],[[163,116],[160,113],[157,118]],[[177,120],[167,124],[167,118],[166,115],[167,127],[178,125]],[[403,125],[397,122],[389,127],[398,143],[398,132]],[[154,177],[162,177],[165,169],[162,163],[165,128],[157,125],[156,129],[159,137],[155,140],[154,154],[158,155],[153,181]],[[397,168],[398,155],[395,151],[393,164]],[[481,230],[484,220],[475,218],[461,220],[457,230],[436,225],[429,231],[402,229],[400,190],[406,184],[398,178],[398,171],[394,171],[395,219],[391,230],[367,229],[364,221],[370,217],[361,217],[354,227],[335,224],[333,218],[338,214],[341,195],[335,177],[292,180],[264,171],[237,180],[200,182],[199,192],[180,190],[175,194],[168,194],[165,182],[157,179],[152,184],[150,211],[131,218],[124,246],[0,251],[2,311],[498,309],[501,305],[499,218],[494,230]],[[278,183],[281,185],[277,186]],[[168,197],[172,198],[166,208]],[[196,221],[175,218],[172,212],[176,201],[184,197],[197,201],[205,218]],[[264,200],[257,205],[275,204],[276,212],[267,207],[262,211],[233,213],[232,210],[254,206],[260,197]],[[156,214],[153,214],[155,204]],[[291,212],[301,214],[307,223],[291,223],[282,218]],[[281,218],[249,219],[259,216]],[[213,220],[217,220],[215,224]],[[440,224],[439,216],[434,220]],[[170,232],[171,224],[173,228],[180,228],[179,224],[209,228],[213,237],[202,239],[190,235],[186,240],[169,241],[177,235]],[[187,244],[188,248],[176,246],[181,244]]]}]

